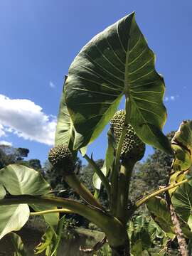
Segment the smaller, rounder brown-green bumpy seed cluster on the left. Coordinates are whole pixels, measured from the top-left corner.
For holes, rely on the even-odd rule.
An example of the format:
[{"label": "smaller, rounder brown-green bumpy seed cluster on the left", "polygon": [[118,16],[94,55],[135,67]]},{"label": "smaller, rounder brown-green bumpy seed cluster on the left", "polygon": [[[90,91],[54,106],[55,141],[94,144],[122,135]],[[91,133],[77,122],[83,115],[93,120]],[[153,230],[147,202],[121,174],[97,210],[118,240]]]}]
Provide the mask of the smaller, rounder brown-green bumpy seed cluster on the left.
[{"label": "smaller, rounder brown-green bumpy seed cluster on the left", "polygon": [[65,144],[59,144],[50,149],[48,160],[50,161],[50,164],[53,164],[55,169],[61,171],[65,175],[71,174],[74,171],[75,164],[73,154]]}]

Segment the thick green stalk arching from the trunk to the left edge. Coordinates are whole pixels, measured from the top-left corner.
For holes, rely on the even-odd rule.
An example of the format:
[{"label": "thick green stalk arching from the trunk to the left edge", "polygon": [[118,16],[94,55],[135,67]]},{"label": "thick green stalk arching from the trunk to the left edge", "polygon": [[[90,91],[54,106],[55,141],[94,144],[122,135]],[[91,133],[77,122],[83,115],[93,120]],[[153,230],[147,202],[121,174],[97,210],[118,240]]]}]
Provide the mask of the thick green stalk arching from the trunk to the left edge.
[{"label": "thick green stalk arching from the trunk to the left edge", "polygon": [[10,206],[20,203],[60,206],[72,210],[74,213],[82,215],[92,223],[95,223],[103,230],[107,236],[109,245],[118,250],[119,247],[127,247],[128,236],[127,230],[122,226],[122,223],[113,216],[105,213],[104,211],[91,206],[85,206],[82,203],[64,198],[53,198],[48,196],[10,196],[0,200],[0,206]]}]

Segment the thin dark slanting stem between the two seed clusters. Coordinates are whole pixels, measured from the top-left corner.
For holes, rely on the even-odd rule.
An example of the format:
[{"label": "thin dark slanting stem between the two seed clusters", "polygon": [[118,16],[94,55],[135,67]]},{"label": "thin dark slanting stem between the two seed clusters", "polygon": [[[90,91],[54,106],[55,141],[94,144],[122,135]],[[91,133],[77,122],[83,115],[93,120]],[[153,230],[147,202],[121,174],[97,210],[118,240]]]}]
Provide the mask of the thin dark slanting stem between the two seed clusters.
[{"label": "thin dark slanting stem between the two seed clusters", "polygon": [[85,154],[85,156],[83,156],[87,162],[93,167],[95,173],[100,177],[100,180],[102,181],[103,185],[106,188],[107,191],[107,195],[110,197],[110,183],[107,179],[107,177],[102,173],[101,169],[99,168],[99,166],[97,166],[97,164],[95,163],[95,161],[89,156],[87,156],[87,154]]}]

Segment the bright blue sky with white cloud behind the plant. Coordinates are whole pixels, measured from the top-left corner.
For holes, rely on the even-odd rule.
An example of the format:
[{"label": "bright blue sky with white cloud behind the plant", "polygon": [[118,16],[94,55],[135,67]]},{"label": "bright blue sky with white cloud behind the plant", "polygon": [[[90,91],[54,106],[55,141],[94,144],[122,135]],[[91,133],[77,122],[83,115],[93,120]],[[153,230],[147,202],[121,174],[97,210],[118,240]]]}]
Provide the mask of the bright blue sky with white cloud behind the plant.
[{"label": "bright blue sky with white cloud behind the plant", "polygon": [[[166,82],[164,132],[191,119],[192,1],[1,0],[0,142],[45,161],[70,63],[95,34],[132,11]],[[105,134],[91,151],[95,159],[105,156]]]}]

